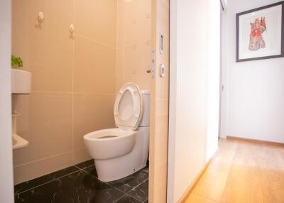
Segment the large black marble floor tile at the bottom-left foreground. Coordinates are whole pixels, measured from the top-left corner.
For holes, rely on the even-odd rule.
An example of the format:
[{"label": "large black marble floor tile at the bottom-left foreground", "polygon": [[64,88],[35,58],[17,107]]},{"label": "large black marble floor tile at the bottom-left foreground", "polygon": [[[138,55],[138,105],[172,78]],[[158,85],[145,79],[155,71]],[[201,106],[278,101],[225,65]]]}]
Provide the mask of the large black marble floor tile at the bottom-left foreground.
[{"label": "large black marble floor tile at the bottom-left foreground", "polygon": [[80,170],[48,182],[33,190],[17,194],[15,202],[115,202],[124,195],[92,175]]}]

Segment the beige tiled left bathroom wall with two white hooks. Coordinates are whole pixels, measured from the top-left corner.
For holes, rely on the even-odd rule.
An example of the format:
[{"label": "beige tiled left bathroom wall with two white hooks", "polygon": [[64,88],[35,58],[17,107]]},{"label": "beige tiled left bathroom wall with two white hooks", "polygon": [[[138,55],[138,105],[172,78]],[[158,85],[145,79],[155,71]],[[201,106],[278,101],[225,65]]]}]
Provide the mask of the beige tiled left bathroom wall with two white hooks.
[{"label": "beige tiled left bathroom wall with two white hooks", "polygon": [[13,150],[17,184],[88,160],[84,134],[114,127],[117,2],[12,3],[13,54],[32,72],[31,94],[13,96],[18,134],[29,142]]}]

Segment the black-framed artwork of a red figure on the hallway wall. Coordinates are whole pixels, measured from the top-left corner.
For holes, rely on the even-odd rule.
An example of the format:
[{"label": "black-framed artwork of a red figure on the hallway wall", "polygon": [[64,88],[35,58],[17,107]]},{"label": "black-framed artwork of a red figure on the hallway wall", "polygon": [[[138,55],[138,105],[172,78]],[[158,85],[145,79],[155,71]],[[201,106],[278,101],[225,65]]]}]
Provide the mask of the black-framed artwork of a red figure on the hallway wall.
[{"label": "black-framed artwork of a red figure on the hallway wall", "polygon": [[284,56],[284,1],[236,14],[236,62]]}]

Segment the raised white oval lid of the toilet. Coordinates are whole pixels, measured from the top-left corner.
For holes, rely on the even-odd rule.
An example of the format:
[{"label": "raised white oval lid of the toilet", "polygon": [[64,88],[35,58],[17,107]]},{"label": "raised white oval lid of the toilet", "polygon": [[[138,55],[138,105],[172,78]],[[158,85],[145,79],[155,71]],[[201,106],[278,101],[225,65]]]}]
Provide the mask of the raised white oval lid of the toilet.
[{"label": "raised white oval lid of the toilet", "polygon": [[143,98],[139,87],[128,82],[116,96],[114,119],[116,126],[125,130],[136,130],[143,116]]}]

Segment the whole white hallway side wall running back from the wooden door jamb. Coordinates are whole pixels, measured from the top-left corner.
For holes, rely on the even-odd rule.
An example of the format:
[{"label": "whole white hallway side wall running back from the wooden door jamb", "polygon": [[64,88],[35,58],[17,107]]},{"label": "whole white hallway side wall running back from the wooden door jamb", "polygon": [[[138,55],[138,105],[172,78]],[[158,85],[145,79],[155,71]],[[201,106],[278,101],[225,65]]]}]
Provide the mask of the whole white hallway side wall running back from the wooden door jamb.
[{"label": "whole white hallway side wall running back from the wooden door jamb", "polygon": [[[178,202],[217,149],[219,67],[209,54],[211,48],[208,48],[209,44],[217,42],[207,43],[212,40],[207,35],[212,28],[207,16],[208,9],[213,8],[209,1],[215,0],[170,2],[169,203]],[[215,4],[219,1],[216,0]],[[217,28],[212,29],[217,34]],[[208,79],[210,75],[215,78]],[[213,84],[212,89],[208,88],[209,84]],[[216,85],[217,89],[214,88]],[[212,90],[217,94],[207,94]],[[214,105],[209,105],[209,101],[214,101]]]}]

